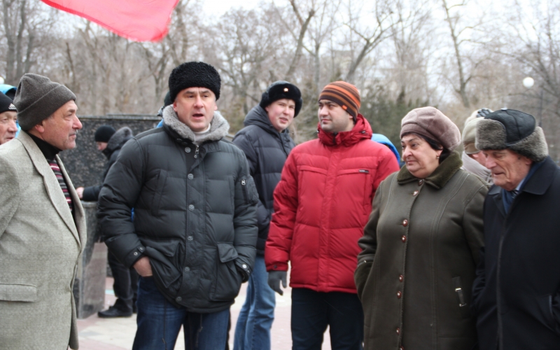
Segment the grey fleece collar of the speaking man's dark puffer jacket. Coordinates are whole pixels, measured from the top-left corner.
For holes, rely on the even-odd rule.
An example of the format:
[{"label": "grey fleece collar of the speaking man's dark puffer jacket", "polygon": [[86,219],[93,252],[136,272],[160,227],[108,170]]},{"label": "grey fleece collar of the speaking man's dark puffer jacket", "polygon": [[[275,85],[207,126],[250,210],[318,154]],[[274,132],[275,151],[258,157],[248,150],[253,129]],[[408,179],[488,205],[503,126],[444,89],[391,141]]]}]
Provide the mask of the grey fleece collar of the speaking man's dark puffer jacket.
[{"label": "grey fleece collar of the speaking man's dark puffer jacket", "polygon": [[[179,137],[193,142],[195,141],[195,133],[190,127],[179,120],[172,105],[165,107],[163,110],[163,123],[176,132]],[[203,144],[206,141],[221,140],[228,134],[228,131],[230,131],[228,120],[225,120],[220,112],[214,111],[214,118],[212,118],[210,131],[207,134],[197,137],[197,144]]]}]

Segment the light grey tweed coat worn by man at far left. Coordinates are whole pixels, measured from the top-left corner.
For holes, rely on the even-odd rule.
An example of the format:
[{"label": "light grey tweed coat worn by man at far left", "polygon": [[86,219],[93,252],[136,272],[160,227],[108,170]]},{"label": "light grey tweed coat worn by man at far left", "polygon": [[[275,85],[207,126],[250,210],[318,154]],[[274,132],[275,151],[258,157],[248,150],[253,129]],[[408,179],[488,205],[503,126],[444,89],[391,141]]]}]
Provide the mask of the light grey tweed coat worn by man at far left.
[{"label": "light grey tweed coat worn by man at far left", "polygon": [[78,349],[74,275],[86,241],[83,208],[68,184],[74,218],[35,142],[20,132],[0,146],[0,348]]}]

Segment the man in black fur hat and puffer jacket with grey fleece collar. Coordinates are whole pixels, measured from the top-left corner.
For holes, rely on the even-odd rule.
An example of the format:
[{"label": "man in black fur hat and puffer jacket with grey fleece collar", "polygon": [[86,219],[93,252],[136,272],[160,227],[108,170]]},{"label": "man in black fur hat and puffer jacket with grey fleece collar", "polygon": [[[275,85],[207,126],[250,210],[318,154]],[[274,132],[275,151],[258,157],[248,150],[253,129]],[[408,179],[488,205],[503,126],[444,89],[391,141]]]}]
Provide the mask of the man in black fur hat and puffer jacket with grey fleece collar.
[{"label": "man in black fur hat and puffer jacket with grey fleece collar", "polygon": [[209,64],[177,66],[163,127],[123,147],[99,196],[109,250],[140,274],[134,350],[173,349],[181,325],[186,347],[224,349],[253,268],[258,193],[244,153],[223,139],[220,85]]}]

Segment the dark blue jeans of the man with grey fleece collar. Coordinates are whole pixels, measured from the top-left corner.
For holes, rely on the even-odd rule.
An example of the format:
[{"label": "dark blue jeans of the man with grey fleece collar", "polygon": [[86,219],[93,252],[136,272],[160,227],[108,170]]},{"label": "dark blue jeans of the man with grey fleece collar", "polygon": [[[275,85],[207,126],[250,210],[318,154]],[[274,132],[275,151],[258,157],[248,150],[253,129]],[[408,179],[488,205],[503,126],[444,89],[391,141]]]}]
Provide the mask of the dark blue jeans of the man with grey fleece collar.
[{"label": "dark blue jeans of the man with grey fleece collar", "polygon": [[225,349],[230,309],[197,314],[169,304],[153,277],[140,277],[137,332],[132,350],[172,350],[183,325],[185,349]]}]

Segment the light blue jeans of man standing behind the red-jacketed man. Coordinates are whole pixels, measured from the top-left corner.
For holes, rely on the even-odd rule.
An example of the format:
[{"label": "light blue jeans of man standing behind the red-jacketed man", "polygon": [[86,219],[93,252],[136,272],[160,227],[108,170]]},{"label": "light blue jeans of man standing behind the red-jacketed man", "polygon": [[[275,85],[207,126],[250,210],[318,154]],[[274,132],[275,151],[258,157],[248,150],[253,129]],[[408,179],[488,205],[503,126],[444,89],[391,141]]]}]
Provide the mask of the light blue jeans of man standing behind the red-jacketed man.
[{"label": "light blue jeans of man standing behind the red-jacketed man", "polygon": [[270,328],[274,321],[276,299],[268,286],[265,257],[257,255],[249,276],[247,298],[235,326],[234,350],[269,350]]}]

